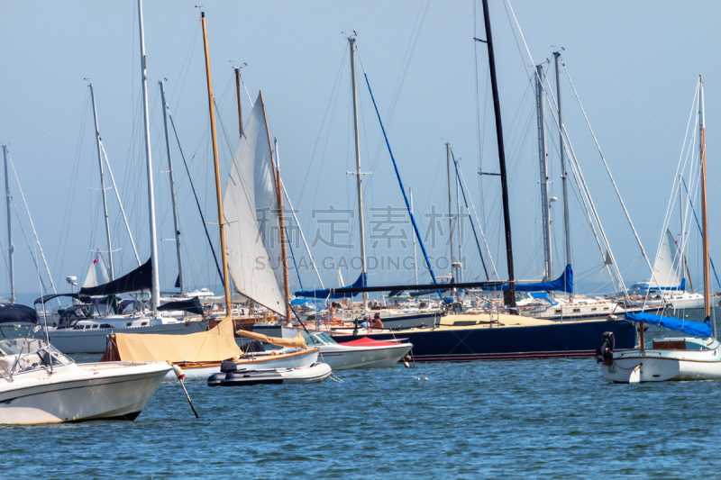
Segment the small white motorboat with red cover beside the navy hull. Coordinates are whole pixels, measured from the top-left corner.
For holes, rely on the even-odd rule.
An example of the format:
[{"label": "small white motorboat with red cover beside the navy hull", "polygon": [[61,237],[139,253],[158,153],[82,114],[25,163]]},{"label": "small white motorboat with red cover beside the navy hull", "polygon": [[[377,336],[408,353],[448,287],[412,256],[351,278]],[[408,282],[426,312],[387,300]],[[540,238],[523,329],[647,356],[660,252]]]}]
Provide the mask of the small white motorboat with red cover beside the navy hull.
[{"label": "small white motorboat with red cover beside the navy hull", "polygon": [[320,358],[333,370],[393,367],[413,348],[410,343],[368,337],[337,343],[324,332],[311,333],[306,344],[320,349]]}]

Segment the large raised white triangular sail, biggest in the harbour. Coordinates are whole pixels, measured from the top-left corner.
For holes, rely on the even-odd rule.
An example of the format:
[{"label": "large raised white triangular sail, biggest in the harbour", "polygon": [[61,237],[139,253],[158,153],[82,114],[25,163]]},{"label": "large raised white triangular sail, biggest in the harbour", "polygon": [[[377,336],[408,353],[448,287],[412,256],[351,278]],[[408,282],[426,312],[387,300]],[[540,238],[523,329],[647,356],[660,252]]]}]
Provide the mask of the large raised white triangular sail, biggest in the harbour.
[{"label": "large raised white triangular sail, biggest in the harbour", "polygon": [[223,205],[235,290],[285,315],[278,194],[260,95],[244,125]]}]

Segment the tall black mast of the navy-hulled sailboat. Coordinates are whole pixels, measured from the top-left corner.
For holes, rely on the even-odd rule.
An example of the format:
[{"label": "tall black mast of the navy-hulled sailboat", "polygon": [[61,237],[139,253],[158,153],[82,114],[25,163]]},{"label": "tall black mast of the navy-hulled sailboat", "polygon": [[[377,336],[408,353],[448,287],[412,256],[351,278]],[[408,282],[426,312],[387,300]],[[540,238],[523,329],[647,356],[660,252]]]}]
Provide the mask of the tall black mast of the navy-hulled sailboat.
[{"label": "tall black mast of the navy-hulled sailboat", "polygon": [[511,213],[508,205],[508,181],[506,175],[506,151],[503,148],[503,124],[501,122],[501,104],[498,99],[498,83],[496,79],[496,59],[493,56],[493,36],[490,32],[490,16],[488,0],[483,0],[483,21],[486,25],[486,44],[488,45],[488,69],[490,70],[490,86],[493,94],[493,112],[496,117],[496,138],[498,143],[498,164],[503,194],[503,225],[506,230],[506,259],[508,266],[508,290],[504,291],[504,303],[516,312],[516,285],[513,273],[513,246],[511,242]]}]

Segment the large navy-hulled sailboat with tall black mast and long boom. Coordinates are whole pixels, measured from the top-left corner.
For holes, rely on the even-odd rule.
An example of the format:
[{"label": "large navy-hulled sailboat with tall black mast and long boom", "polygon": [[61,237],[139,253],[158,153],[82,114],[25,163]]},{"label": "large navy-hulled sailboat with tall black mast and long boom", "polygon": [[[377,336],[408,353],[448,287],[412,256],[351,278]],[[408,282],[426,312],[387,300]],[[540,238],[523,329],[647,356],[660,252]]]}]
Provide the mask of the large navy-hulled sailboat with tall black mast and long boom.
[{"label": "large navy-hulled sailboat with tall black mast and long boom", "polygon": [[[499,177],[501,180],[504,229],[506,233],[507,281],[498,282],[466,282],[444,284],[446,288],[477,288],[494,287],[504,295],[504,303],[509,312],[516,312],[516,279],[513,267],[513,250],[511,242],[511,222],[508,202],[507,169],[504,150],[504,137],[501,122],[500,102],[496,78],[493,41],[491,40],[488,0],[483,0],[483,14],[486,26],[485,40],[488,46],[488,64],[491,90],[494,102],[496,132],[498,144]],[[365,72],[364,72],[365,74]],[[366,77],[367,83],[368,77]],[[372,92],[370,93],[372,98]],[[374,101],[375,104],[375,101]],[[378,114],[378,109],[376,107]],[[378,114],[379,116],[379,114]],[[379,116],[379,122],[380,121]],[[388,136],[384,130],[386,143],[391,159]],[[396,167],[397,171],[397,167]],[[400,176],[397,172],[397,177]],[[399,182],[400,183],[400,182]],[[403,190],[402,184],[400,184]],[[405,196],[405,191],[403,191]],[[406,200],[407,204],[407,200]],[[408,205],[408,210],[409,210]],[[413,221],[413,218],[411,218]],[[417,235],[417,231],[416,231]],[[418,239],[423,247],[423,240]],[[424,251],[425,256],[425,251]],[[328,294],[352,294],[360,292],[378,292],[392,290],[427,290],[439,288],[439,284],[385,285],[361,288],[327,289]],[[505,309],[504,309],[505,310]],[[402,329],[393,332],[368,332],[363,335],[373,340],[392,340],[404,338],[413,343],[413,355],[420,361],[470,361],[511,358],[579,358],[594,355],[598,337],[605,331],[612,331],[621,348],[630,349],[634,346],[634,327],[630,322],[609,318],[604,321],[570,321],[551,322],[527,318],[517,314],[502,312],[501,309],[479,314],[446,315],[439,323],[426,328]],[[344,342],[357,340],[359,335],[348,335],[345,332],[333,332],[333,340]]]}]

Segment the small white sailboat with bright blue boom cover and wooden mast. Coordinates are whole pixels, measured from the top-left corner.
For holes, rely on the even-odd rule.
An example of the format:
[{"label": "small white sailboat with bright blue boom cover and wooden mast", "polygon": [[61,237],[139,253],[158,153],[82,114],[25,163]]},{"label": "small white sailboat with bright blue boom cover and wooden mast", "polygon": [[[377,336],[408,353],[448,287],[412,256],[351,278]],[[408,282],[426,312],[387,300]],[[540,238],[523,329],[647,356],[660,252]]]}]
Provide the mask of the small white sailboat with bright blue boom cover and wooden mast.
[{"label": "small white sailboat with bright blue boom cover and wooden mast", "polygon": [[[703,233],[704,322],[691,322],[650,313],[628,314],[637,322],[637,349],[614,351],[613,334],[605,333],[597,352],[601,373],[616,383],[664,382],[669,380],[721,379],[721,344],[711,325],[711,282],[708,255],[708,205],[706,163],[706,119],[704,113],[703,77],[698,77],[698,135],[699,182],[701,195],[701,224]],[[715,320],[715,319],[714,319]],[[646,343],[644,324],[658,325],[682,331],[694,337],[665,337]],[[715,327],[715,325],[714,325]]]}]

